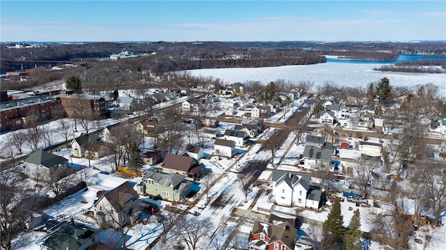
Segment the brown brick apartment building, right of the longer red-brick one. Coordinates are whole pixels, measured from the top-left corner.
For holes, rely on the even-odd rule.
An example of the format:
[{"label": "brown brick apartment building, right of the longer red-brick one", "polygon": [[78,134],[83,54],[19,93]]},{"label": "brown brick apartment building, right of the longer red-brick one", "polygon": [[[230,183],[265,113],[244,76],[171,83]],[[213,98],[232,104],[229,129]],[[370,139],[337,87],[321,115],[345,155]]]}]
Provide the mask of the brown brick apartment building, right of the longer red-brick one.
[{"label": "brown brick apartment building, right of the longer red-brick one", "polygon": [[100,119],[107,116],[105,98],[97,95],[61,95],[61,105],[68,117]]}]

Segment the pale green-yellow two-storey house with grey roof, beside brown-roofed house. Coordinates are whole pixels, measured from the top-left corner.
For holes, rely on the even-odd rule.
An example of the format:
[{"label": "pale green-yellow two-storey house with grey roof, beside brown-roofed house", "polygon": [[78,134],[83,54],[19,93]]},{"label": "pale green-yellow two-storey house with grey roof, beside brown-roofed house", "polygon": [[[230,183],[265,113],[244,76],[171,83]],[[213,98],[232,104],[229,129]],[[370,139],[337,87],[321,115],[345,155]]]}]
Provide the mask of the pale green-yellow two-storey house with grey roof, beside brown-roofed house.
[{"label": "pale green-yellow two-storey house with grey roof, beside brown-roofed house", "polygon": [[134,186],[138,194],[156,196],[166,201],[179,202],[190,194],[190,184],[185,175],[146,171],[141,182]]}]

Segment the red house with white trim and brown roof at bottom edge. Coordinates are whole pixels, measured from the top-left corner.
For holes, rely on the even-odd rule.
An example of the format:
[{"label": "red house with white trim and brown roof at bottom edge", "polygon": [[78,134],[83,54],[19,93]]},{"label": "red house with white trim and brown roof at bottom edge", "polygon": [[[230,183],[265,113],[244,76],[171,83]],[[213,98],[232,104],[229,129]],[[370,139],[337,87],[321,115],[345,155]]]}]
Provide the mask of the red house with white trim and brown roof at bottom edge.
[{"label": "red house with white trim and brown roof at bottom edge", "polygon": [[254,221],[250,250],[293,250],[298,229],[289,222],[279,225]]}]

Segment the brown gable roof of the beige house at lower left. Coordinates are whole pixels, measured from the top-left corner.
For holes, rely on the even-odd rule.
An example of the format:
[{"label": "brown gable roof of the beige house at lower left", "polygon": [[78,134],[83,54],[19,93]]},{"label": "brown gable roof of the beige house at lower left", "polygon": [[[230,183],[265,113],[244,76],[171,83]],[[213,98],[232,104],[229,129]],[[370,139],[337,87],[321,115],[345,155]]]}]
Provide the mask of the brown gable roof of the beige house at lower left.
[{"label": "brown gable roof of the beige house at lower left", "polygon": [[[121,212],[125,208],[125,204],[130,199],[138,199],[139,194],[137,194],[136,191],[134,191],[132,185],[130,185],[130,182],[124,182],[123,184],[119,185],[115,189],[110,190],[106,194],[102,196],[102,198],[107,198],[107,201],[112,205],[112,207],[117,211]],[[98,202],[102,199],[100,198]]]}]

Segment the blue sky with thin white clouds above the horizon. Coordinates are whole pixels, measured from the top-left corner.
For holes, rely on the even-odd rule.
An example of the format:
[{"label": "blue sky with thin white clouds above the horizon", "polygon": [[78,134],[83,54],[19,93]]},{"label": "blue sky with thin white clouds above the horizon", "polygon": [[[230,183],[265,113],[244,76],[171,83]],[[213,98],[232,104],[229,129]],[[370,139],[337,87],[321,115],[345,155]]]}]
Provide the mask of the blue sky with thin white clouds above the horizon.
[{"label": "blue sky with thin white clouds above the horizon", "polygon": [[446,1],[0,1],[1,42],[446,40]]}]

